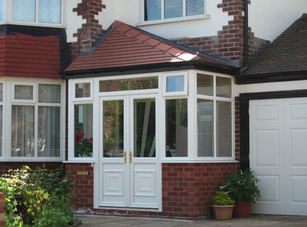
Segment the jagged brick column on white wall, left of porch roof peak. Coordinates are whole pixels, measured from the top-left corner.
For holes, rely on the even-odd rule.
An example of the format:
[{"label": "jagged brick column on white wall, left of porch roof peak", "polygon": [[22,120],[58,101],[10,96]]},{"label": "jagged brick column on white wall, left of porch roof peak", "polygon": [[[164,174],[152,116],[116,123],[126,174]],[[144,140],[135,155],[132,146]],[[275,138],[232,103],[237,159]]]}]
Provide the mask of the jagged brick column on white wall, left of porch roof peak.
[{"label": "jagged brick column on white wall, left of porch roof peak", "polygon": [[77,12],[78,16],[82,16],[82,19],[86,19],[86,23],[82,24],[77,33],[73,34],[73,37],[77,37],[78,40],[72,42],[72,60],[77,58],[80,50],[91,49],[102,35],[102,25],[99,25],[95,15],[98,15],[105,8],[106,6],[102,4],[102,0],[82,0],[76,8],[72,9],[73,12]]}]

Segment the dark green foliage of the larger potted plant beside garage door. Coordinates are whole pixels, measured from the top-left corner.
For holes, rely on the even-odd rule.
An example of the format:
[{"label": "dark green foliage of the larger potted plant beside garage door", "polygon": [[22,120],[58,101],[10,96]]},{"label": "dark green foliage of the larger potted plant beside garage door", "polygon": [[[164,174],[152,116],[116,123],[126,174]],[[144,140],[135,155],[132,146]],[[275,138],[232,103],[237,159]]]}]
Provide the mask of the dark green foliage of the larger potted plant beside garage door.
[{"label": "dark green foliage of the larger potted plant beside garage door", "polygon": [[227,191],[233,200],[243,200],[256,202],[255,196],[260,197],[258,189],[259,180],[252,174],[251,169],[240,171],[240,173],[231,173],[228,178],[223,179],[221,189]]}]

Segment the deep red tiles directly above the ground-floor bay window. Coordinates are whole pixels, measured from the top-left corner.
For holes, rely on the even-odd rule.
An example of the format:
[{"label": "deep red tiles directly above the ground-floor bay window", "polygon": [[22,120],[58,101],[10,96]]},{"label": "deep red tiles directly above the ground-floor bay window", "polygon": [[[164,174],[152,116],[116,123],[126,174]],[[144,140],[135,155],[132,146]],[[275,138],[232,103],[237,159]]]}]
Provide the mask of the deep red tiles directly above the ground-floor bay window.
[{"label": "deep red tiles directly above the ground-floor bay window", "polygon": [[60,79],[56,36],[0,35],[0,76]]}]

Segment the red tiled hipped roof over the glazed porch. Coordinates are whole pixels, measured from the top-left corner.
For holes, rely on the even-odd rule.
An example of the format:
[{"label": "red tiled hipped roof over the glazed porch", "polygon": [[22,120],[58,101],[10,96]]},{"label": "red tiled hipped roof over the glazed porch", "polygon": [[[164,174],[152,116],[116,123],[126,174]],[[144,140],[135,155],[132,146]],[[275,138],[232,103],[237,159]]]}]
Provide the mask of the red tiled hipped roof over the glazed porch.
[{"label": "red tiled hipped roof over the glazed porch", "polygon": [[[109,29],[108,29],[109,30]],[[198,60],[229,66],[210,57]],[[103,69],[109,67],[139,66],[145,64],[196,60],[196,52],[140,29],[115,21],[109,33],[94,52],[80,55],[65,71]]]}]

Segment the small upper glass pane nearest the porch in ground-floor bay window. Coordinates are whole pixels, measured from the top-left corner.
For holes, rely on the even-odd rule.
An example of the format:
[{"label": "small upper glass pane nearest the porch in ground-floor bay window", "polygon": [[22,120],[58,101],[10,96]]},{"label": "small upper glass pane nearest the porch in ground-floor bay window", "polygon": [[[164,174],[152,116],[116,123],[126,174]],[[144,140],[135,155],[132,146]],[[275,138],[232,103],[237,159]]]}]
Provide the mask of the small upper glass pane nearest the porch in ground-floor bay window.
[{"label": "small upper glass pane nearest the porch in ground-floor bay window", "polygon": [[39,84],[38,102],[61,103],[61,85]]}]

